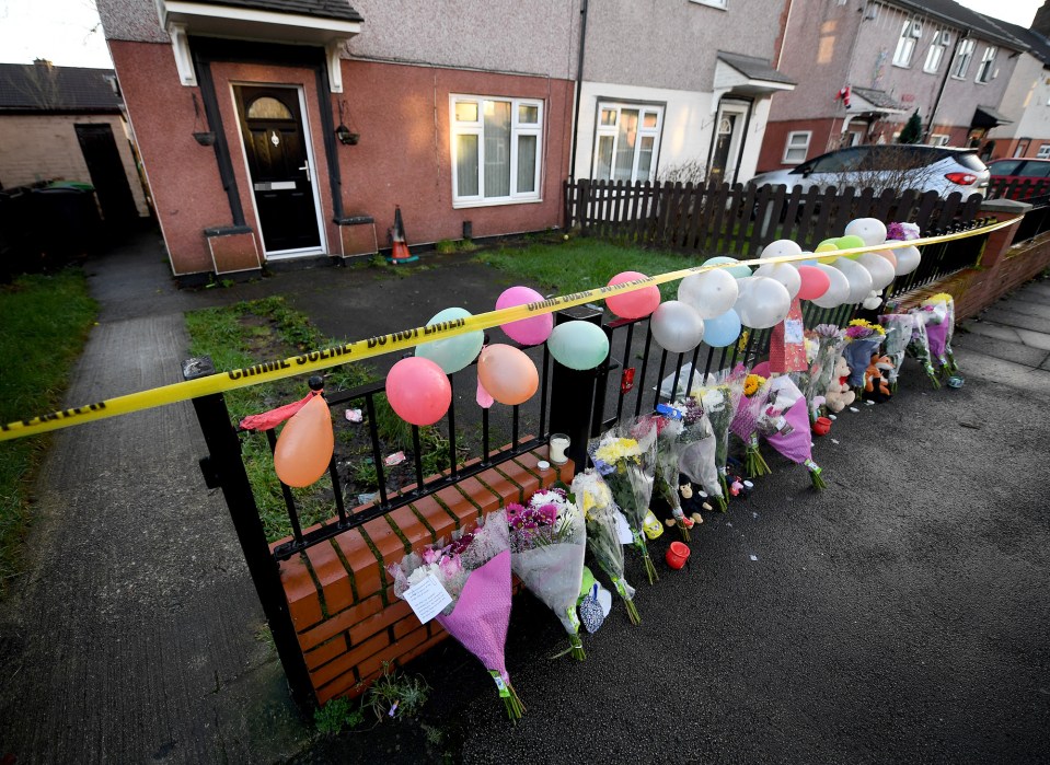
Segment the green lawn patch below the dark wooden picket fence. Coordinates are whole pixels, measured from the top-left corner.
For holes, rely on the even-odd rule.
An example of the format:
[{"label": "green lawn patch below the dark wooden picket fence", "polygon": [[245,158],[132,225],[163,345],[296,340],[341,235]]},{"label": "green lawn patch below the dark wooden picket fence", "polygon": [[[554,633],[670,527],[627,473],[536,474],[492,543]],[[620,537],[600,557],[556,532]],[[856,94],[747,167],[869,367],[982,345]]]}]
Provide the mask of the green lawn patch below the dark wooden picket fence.
[{"label": "green lawn patch below the dark wooden picket fence", "polygon": [[[556,289],[558,294],[604,287],[622,271],[655,276],[703,263],[686,255],[620,246],[582,236],[536,242],[526,247],[500,247],[480,253],[477,259],[521,279]],[[660,285],[664,300],[677,297],[678,283]]]}]

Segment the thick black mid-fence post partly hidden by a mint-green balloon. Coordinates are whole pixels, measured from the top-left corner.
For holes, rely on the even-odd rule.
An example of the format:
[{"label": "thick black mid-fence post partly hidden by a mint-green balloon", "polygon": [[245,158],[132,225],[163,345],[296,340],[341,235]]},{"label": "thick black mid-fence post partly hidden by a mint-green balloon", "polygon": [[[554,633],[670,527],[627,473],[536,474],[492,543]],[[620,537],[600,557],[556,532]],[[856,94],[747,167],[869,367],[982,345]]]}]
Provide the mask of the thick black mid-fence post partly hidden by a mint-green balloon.
[{"label": "thick black mid-fence post partly hidden by a mint-green balloon", "polygon": [[[601,325],[602,311],[587,305],[558,311],[554,314],[554,323],[564,324],[572,321],[591,322]],[[610,352],[611,352],[610,348]],[[568,456],[582,471],[587,465],[587,441],[590,438],[590,425],[595,410],[595,381],[598,370],[575,370],[565,367],[552,358],[554,370],[551,375],[551,432],[565,433],[570,444]],[[607,358],[598,368],[609,372]],[[601,392],[604,405],[604,389]]]}]

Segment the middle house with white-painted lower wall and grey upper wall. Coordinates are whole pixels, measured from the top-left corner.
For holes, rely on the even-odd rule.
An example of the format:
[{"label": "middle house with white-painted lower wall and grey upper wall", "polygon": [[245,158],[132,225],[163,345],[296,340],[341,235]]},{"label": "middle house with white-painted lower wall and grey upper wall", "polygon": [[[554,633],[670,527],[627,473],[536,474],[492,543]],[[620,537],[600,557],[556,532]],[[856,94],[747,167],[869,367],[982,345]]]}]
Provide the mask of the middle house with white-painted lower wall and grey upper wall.
[{"label": "middle house with white-painted lower wall and grey upper wall", "polygon": [[682,0],[642,12],[585,3],[575,176],[734,183],[754,175],[771,97],[798,79],[772,63],[785,8]]}]

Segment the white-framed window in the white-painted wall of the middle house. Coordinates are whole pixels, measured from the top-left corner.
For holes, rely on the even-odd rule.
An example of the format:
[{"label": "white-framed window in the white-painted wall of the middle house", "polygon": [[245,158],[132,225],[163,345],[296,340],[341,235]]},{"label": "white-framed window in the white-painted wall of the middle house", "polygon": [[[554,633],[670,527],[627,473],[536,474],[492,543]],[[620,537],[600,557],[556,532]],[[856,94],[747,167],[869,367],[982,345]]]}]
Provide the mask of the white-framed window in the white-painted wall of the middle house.
[{"label": "white-framed window in the white-painted wall of the middle house", "polygon": [[651,181],[659,152],[660,106],[598,104],[595,136],[596,181]]}]

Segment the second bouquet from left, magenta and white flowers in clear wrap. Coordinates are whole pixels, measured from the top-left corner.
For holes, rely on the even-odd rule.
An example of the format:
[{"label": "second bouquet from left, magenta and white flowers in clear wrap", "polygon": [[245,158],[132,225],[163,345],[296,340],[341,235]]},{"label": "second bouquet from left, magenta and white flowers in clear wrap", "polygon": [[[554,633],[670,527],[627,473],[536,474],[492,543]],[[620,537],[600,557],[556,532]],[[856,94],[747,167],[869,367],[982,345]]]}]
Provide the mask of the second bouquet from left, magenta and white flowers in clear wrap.
[{"label": "second bouquet from left, magenta and white flowers in clear wrap", "polygon": [[528,507],[507,506],[510,525],[510,568],[568,633],[574,659],[586,659],[579,639],[579,600],[584,580],[587,533],[584,514],[564,489],[536,491]]}]

